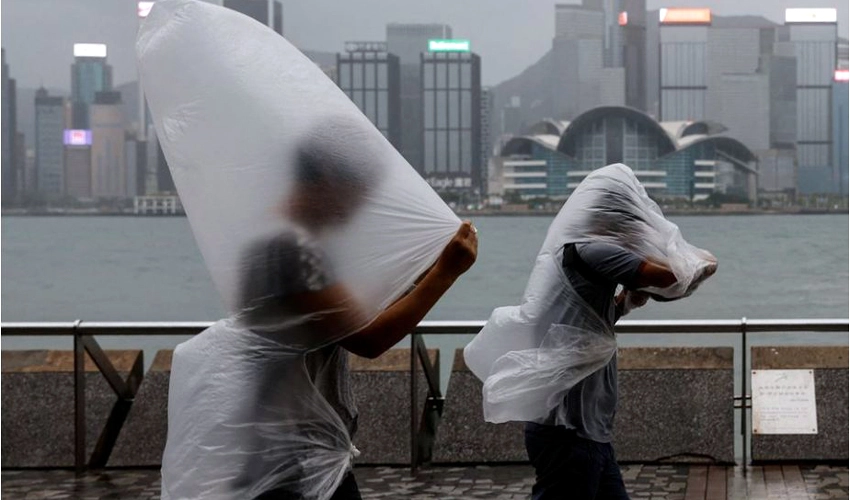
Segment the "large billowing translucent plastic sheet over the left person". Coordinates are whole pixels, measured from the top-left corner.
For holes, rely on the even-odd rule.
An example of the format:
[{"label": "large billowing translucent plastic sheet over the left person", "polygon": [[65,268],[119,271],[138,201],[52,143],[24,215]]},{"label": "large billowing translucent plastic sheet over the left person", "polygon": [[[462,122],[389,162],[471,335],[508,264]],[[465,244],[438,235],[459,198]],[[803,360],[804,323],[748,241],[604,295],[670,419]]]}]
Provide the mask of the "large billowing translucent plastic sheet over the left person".
[{"label": "large billowing translucent plastic sheet over the left person", "polygon": [[229,314],[174,353],[162,496],[329,498],[354,448],[317,374],[460,221],[313,62],[249,17],[161,0],[136,51]]}]

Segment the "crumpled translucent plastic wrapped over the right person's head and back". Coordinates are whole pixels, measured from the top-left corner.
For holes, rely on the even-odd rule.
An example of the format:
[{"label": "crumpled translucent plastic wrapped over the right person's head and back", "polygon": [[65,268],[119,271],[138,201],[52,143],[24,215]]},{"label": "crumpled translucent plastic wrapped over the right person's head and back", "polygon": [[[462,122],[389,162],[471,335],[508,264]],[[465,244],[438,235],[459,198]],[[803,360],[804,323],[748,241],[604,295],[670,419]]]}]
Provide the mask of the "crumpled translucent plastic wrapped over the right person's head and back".
[{"label": "crumpled translucent plastic wrapped over the right person's head and back", "polygon": [[[641,290],[661,301],[692,294],[716,264],[664,218],[629,167],[592,172],[549,226],[522,304],[494,310],[464,349],[467,366],[484,382],[486,421],[542,422],[575,384],[616,354],[614,331],[576,293],[561,267],[565,245],[590,241],[666,263],[676,283]],[[555,422],[566,423],[566,415],[556,414]]]}]

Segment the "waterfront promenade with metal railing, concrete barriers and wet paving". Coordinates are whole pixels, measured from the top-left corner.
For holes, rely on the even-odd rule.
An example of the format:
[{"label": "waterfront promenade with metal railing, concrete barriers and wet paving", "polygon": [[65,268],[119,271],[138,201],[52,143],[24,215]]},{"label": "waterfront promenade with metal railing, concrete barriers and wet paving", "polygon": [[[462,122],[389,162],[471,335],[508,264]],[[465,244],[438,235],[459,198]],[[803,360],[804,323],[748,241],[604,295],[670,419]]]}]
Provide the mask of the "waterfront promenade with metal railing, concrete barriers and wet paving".
[{"label": "waterfront promenade with metal railing, concrete barriers and wet paving", "polygon": [[[364,498],[530,497],[534,474],[525,462],[521,425],[483,422],[480,381],[468,372],[460,351],[428,349],[422,340],[475,332],[482,323],[423,322],[410,338],[411,349],[352,360],[363,416],[355,473]],[[75,351],[3,351],[7,404],[0,496],[160,498],[171,351],[158,351],[143,373],[140,350],[103,351],[97,337],[191,335],[206,326],[2,324],[4,341],[70,336]],[[624,336],[655,332],[684,341],[737,333],[727,342],[740,343],[737,351],[732,346],[620,350],[616,447],[631,498],[848,498],[846,344],[771,347],[748,340],[782,332],[814,341],[847,327],[844,319],[623,322]],[[93,362],[83,361],[86,353]],[[451,368],[445,388],[440,354]],[[736,360],[753,370],[812,370],[817,433],[770,436],[741,427],[741,410],[750,414],[752,390],[749,378],[735,376]],[[744,457],[735,453],[741,444]],[[754,465],[741,467],[750,460]],[[727,465],[733,462],[739,465]]]}]

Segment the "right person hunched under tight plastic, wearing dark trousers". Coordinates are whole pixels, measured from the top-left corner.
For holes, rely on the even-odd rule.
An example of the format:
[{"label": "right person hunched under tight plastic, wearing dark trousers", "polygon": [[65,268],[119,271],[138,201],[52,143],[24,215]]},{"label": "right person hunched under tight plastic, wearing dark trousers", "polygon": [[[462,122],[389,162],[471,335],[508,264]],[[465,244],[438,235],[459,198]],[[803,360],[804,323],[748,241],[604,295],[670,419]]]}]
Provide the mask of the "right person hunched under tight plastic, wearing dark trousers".
[{"label": "right person hunched under tight plastic, wearing dark trousers", "polygon": [[[524,408],[514,412],[533,420],[525,424],[525,445],[536,472],[534,500],[628,498],[611,445],[618,398],[614,324],[650,297],[690,295],[717,268],[713,256],[679,241],[678,230],[625,165],[600,169],[583,184],[553,222],[538,259],[537,269],[552,263],[549,276],[535,279],[533,273],[526,293],[524,306],[536,304],[538,293],[547,296],[546,304],[520,313],[549,323],[541,325],[547,336],[533,344],[540,349],[508,353],[494,363],[485,382],[485,414],[488,403],[494,412],[502,404],[494,389],[500,376],[528,377],[513,388],[545,393],[517,402]],[[677,245],[687,255],[669,252]],[[535,288],[547,279],[551,285]],[[533,361],[508,359],[523,352]],[[538,378],[521,373],[538,366]]]}]

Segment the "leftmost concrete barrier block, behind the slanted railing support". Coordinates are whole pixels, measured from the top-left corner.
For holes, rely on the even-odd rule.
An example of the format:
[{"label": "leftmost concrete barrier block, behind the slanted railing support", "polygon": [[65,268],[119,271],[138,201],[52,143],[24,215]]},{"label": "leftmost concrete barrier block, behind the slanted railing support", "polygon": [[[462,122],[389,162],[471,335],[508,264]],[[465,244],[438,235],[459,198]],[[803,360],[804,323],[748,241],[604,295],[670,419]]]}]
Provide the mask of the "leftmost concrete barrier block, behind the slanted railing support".
[{"label": "leftmost concrete barrier block, behind the slanted railing support", "polygon": [[[106,351],[122,378],[142,351]],[[73,467],[73,351],[3,351],[2,465]],[[112,406],[112,388],[86,355],[86,461],[97,443]]]}]

